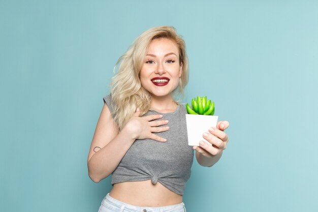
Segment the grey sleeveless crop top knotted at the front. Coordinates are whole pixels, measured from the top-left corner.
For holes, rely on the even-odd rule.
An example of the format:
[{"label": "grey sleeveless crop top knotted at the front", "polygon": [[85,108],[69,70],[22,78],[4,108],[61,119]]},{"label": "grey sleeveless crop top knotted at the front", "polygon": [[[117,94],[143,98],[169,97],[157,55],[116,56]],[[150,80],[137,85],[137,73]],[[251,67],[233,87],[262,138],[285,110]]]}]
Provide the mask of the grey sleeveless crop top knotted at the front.
[{"label": "grey sleeveless crop top knotted at the front", "polygon": [[[112,111],[111,96],[103,99]],[[167,141],[137,139],[112,173],[112,185],[151,179],[152,184],[159,182],[169,190],[183,195],[194,158],[194,150],[187,142],[186,109],[178,105],[176,111],[171,113],[149,110],[144,116],[150,114],[162,114],[162,119],[169,120],[169,130],[156,133]]]}]

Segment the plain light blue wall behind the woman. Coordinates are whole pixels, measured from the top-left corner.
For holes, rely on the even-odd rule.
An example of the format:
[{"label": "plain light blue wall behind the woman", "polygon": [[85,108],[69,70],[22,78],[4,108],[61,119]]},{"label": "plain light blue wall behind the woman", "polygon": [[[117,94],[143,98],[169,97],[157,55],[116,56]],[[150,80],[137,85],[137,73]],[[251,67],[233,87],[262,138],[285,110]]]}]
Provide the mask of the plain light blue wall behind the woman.
[{"label": "plain light blue wall behind the woman", "polygon": [[195,161],[196,211],[317,211],[317,1],[0,1],[1,211],[98,211],[87,155],[118,57],[146,29],[187,44],[189,102],[216,103],[228,148]]}]

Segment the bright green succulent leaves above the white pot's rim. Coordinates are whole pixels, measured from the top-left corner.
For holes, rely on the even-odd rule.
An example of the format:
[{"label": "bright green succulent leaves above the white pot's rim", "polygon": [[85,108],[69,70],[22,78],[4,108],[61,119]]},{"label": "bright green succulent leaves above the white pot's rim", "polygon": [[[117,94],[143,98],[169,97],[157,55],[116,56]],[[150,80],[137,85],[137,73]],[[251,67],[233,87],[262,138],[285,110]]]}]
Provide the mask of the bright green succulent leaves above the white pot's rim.
[{"label": "bright green succulent leaves above the white pot's rim", "polygon": [[192,108],[189,104],[185,105],[188,114],[195,115],[214,115],[214,102],[211,103],[211,100],[207,101],[206,97],[197,97],[192,99]]}]

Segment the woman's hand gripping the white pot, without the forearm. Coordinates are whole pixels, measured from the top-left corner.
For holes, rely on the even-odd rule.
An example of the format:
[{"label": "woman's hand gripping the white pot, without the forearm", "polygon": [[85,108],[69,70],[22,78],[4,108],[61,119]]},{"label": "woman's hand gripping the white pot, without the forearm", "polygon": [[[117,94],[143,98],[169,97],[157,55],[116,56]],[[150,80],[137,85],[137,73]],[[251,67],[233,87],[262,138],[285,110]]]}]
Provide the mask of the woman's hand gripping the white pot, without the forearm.
[{"label": "woman's hand gripping the white pot, without the forearm", "polygon": [[194,146],[193,149],[208,158],[221,154],[222,151],[227,148],[229,141],[228,135],[224,132],[229,125],[227,121],[218,122],[216,128],[211,127],[208,132],[203,134],[203,138],[212,145],[200,141],[200,146]]}]

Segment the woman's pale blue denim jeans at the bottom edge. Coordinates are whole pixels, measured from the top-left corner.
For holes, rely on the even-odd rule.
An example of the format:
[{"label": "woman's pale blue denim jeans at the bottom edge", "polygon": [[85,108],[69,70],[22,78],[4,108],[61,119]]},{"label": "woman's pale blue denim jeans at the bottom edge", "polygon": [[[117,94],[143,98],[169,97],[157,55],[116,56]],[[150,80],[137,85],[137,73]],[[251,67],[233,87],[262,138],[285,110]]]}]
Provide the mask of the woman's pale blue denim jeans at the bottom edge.
[{"label": "woman's pale blue denim jeans at the bottom edge", "polygon": [[139,207],[120,202],[109,193],[103,199],[99,212],[186,212],[184,203],[164,207]]}]

